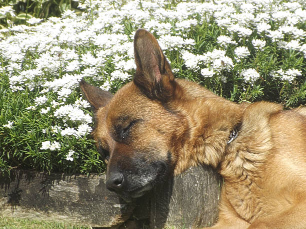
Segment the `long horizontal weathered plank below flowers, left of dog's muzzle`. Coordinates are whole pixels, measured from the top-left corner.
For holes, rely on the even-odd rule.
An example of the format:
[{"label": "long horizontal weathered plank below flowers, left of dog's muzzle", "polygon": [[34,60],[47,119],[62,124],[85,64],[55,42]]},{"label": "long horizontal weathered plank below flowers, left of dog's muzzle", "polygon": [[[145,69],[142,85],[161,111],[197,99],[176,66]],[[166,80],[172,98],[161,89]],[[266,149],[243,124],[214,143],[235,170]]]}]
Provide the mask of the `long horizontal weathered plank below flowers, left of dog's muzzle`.
[{"label": "long horizontal weathered plank below flowers, left of dog's muzzle", "polygon": [[105,175],[67,176],[12,171],[0,181],[0,215],[111,227],[130,218],[126,204],[105,187]]}]

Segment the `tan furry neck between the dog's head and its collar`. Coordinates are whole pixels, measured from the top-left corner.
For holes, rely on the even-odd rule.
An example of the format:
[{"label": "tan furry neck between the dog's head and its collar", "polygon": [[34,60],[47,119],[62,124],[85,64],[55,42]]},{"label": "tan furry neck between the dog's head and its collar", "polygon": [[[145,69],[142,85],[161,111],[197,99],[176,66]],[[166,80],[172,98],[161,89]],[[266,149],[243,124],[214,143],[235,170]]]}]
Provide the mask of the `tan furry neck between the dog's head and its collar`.
[{"label": "tan furry neck between the dog's head and its collar", "polygon": [[[237,137],[243,108],[218,96],[198,97],[185,101],[187,107],[179,107],[187,120],[187,139],[181,149],[184,160],[178,159],[175,174],[198,164],[218,167],[228,145]],[[222,110],[222,113],[219,113]],[[233,133],[233,131],[235,133]],[[231,136],[232,135],[232,136]],[[187,160],[186,160],[187,159]]]}]

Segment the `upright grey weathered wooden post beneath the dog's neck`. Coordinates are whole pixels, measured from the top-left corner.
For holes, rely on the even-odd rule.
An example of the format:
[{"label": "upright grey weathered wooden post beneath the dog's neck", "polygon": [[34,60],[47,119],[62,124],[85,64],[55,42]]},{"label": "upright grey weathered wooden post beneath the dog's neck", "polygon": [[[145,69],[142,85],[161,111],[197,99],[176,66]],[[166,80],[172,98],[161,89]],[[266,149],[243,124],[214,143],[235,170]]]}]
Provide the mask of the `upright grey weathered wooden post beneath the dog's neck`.
[{"label": "upright grey weathered wooden post beneath the dog's neck", "polygon": [[189,168],[169,178],[152,195],[150,228],[211,226],[217,219],[221,181],[216,171],[207,166]]}]

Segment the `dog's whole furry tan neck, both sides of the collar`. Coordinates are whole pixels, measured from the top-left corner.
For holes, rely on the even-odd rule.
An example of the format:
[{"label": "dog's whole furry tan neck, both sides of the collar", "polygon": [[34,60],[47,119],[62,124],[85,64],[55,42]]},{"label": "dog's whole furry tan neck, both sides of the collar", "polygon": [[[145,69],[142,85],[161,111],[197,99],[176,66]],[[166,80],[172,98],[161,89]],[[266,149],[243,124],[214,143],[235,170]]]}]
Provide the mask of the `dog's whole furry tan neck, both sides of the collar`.
[{"label": "dog's whole furry tan neck, both sides of the collar", "polygon": [[[181,144],[173,146],[173,152],[179,152],[174,174],[206,164],[217,168],[225,179],[235,180],[257,170],[271,149],[268,117],[282,107],[264,102],[237,104],[200,86],[191,87],[191,82],[177,82],[179,99],[172,101],[172,108],[185,126],[181,127]],[[231,140],[235,128],[238,134]]]}]

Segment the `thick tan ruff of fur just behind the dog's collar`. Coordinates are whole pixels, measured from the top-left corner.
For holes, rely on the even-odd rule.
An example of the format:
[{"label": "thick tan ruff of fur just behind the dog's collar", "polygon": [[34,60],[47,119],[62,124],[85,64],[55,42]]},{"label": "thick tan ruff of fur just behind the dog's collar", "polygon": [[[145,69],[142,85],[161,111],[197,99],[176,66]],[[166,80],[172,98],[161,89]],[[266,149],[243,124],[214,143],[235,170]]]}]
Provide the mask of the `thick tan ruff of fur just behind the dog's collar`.
[{"label": "thick tan ruff of fur just behind the dog's collar", "polygon": [[269,118],[282,110],[279,104],[266,106],[265,103],[245,106],[239,135],[228,144],[226,155],[219,165],[219,173],[225,180],[260,176],[260,171],[264,169],[262,166],[273,149]]}]

